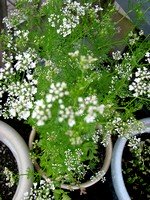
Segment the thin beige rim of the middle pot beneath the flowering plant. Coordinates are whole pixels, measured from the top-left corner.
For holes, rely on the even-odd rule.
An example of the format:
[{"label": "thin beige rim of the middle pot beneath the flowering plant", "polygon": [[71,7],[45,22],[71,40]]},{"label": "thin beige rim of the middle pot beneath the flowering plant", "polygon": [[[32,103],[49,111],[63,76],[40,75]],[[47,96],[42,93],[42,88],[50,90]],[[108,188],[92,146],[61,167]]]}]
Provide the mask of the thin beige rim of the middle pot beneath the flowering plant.
[{"label": "thin beige rim of the middle pot beneath the flowering plant", "polygon": [[[32,128],[32,131],[30,133],[29,136],[29,149],[32,150],[32,144],[34,141],[36,135],[36,131],[34,128]],[[106,172],[108,171],[108,168],[110,166],[110,162],[111,162],[111,157],[112,157],[112,140],[111,138],[109,139],[109,143],[106,146],[106,152],[105,152],[105,159],[104,159],[104,163],[103,166],[101,168],[101,170],[99,170],[100,173],[98,173],[97,176],[94,177],[94,180],[88,180],[84,183],[81,183],[79,185],[69,185],[69,184],[61,184],[61,188],[62,189],[67,189],[67,190],[78,190],[80,189],[81,192],[87,187],[90,187],[92,185],[94,185],[95,183],[97,183],[100,179],[102,179],[104,177],[104,175],[106,174]],[[42,171],[42,169],[40,168],[39,164],[36,162],[36,160],[34,160],[34,166],[36,168],[36,170],[42,175],[42,177],[46,180],[46,181],[50,181],[50,179],[46,176],[46,174]]]}]

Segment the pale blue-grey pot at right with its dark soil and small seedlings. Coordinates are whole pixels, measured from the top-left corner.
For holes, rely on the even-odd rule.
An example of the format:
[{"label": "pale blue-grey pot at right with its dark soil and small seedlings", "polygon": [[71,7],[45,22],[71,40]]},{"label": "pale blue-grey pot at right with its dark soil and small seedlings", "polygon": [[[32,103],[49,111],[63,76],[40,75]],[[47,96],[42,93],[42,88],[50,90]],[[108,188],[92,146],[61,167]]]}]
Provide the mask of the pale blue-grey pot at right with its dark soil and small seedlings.
[{"label": "pale blue-grey pot at right with its dark soil and small seedlings", "polygon": [[132,127],[130,136],[120,137],[114,146],[112,180],[119,200],[149,198],[150,118],[142,119],[141,125]]}]

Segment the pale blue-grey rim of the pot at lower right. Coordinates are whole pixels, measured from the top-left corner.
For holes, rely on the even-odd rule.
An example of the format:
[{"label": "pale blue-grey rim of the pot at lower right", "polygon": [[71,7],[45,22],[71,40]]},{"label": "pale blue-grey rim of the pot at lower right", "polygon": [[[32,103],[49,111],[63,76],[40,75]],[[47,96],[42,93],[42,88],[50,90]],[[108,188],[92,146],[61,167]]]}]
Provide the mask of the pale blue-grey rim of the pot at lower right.
[{"label": "pale blue-grey rim of the pot at lower right", "polygon": [[[133,135],[138,135],[142,133],[150,133],[150,118],[144,118],[140,120],[144,124],[144,128],[141,132],[133,132]],[[123,174],[122,174],[122,154],[124,147],[126,145],[127,139],[125,137],[120,137],[117,139],[111,161],[111,175],[112,182],[119,200],[130,200],[130,196],[125,187]]]}]

